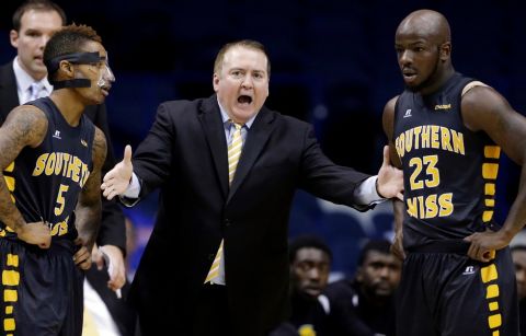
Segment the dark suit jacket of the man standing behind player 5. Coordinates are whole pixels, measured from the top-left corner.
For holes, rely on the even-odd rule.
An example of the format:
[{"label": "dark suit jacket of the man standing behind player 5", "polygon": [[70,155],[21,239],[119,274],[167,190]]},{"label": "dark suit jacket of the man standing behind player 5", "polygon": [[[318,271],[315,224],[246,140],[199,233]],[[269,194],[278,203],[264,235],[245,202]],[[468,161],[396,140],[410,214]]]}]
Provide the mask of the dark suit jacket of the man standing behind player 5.
[{"label": "dark suit jacket of the man standing behind player 5", "polygon": [[[16,79],[13,71],[13,62],[0,67],[0,125],[3,124],[8,114],[14,107],[19,106],[19,95],[16,93]],[[106,118],[106,107],[104,104],[88,106],[85,115],[90,117],[93,124],[99,127],[106,136],[107,154],[103,166],[103,174],[115,165],[112,142],[108,137],[108,127]],[[124,215],[119,205],[115,201],[102,200],[103,221],[99,231],[96,243],[102,246],[106,244],[118,246],[126,251],[126,227],[124,224]]]}]

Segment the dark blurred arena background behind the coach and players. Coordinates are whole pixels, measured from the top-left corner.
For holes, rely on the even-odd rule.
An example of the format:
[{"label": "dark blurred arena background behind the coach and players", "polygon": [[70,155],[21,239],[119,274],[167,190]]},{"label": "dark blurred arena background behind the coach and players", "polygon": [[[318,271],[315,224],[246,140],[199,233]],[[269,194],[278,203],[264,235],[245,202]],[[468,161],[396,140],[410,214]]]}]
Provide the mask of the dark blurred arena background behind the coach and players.
[{"label": "dark blurred arena background behind the coach and players", "polygon": [[[20,3],[1,4],[2,62],[14,57],[9,30],[11,14]],[[117,78],[107,104],[118,158],[124,144],[135,147],[146,136],[160,102],[213,93],[213,62],[222,44],[252,38],[266,45],[272,60],[267,105],[312,123],[325,153],[335,162],[374,174],[385,143],[384,104],[403,90],[393,48],[395,31],[409,12],[422,8],[438,10],[448,18],[458,71],[496,88],[516,109],[526,109],[526,23],[521,1],[57,3],[68,13],[69,22],[92,25],[108,50]],[[518,184],[518,169],[506,159],[501,164],[500,183],[498,218],[502,220]],[[293,235],[327,230],[324,223],[312,224],[318,218],[309,212],[316,207],[312,201],[307,195],[298,196]],[[148,227],[156,202],[153,196],[128,213],[139,227]],[[378,222],[387,228],[390,220],[384,216]],[[333,233],[322,234],[331,240]],[[348,271],[336,263],[339,267]]]}]

